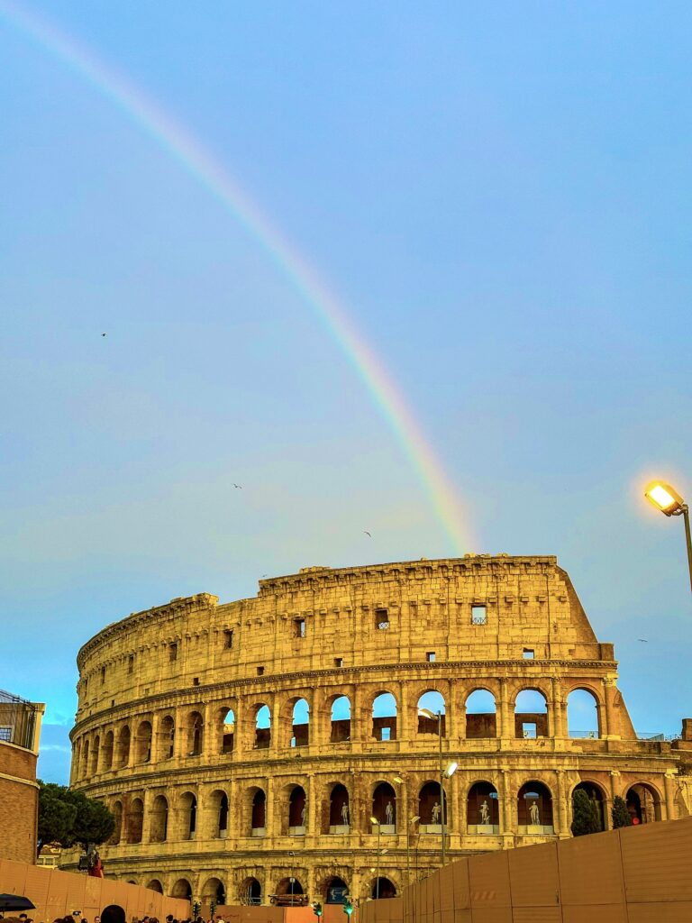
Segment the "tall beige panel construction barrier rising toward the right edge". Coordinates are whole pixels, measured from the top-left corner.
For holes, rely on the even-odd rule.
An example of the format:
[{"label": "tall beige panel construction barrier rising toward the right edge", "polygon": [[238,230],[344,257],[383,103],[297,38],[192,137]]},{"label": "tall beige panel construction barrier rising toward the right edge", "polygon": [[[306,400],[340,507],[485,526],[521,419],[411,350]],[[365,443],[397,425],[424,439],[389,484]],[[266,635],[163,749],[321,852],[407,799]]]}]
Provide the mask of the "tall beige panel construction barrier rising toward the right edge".
[{"label": "tall beige panel construction barrier rising toward the right edge", "polygon": [[468,857],[355,923],[692,923],[692,818]]}]

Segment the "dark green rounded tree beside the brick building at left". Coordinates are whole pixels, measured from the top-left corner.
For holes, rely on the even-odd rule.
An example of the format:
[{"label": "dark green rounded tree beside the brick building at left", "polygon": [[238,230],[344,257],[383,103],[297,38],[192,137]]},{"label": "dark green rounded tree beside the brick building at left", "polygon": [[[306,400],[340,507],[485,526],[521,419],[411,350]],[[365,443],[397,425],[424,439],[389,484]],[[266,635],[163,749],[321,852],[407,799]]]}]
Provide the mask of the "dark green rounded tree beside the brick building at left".
[{"label": "dark green rounded tree beside the brick building at left", "polygon": [[115,829],[115,818],[101,801],[65,785],[39,780],[39,853],[46,843],[87,849],[89,843],[101,845]]}]

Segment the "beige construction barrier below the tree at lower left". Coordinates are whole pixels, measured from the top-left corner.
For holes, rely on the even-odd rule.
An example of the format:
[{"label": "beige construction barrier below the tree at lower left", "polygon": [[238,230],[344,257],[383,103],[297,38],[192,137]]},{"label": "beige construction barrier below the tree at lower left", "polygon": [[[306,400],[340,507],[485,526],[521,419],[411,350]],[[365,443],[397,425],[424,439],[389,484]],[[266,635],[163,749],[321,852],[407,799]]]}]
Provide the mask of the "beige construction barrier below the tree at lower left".
[{"label": "beige construction barrier below the tree at lower left", "polygon": [[24,862],[0,860],[0,893],[21,894],[36,905],[28,911],[36,923],[53,923],[55,917],[66,917],[73,910],[93,923],[107,906],[121,907],[127,923],[132,917],[159,917],[161,923],[168,914],[179,920],[190,917],[189,901],[149,891],[137,884],[89,878],[56,869],[31,866]]}]

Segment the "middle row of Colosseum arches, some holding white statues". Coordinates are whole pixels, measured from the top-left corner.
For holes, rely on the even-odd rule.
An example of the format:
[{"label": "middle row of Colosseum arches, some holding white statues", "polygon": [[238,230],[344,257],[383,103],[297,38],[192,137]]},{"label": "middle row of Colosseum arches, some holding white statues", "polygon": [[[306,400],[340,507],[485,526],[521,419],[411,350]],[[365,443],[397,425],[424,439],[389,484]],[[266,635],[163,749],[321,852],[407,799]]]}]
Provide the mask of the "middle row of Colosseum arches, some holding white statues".
[{"label": "middle row of Colosseum arches, some holding white statues", "polygon": [[[597,805],[602,829],[606,829],[606,797],[601,786],[581,782],[575,786],[572,795],[578,789],[584,789]],[[466,833],[500,833],[502,821],[499,800],[497,789],[491,782],[473,783],[466,795]],[[648,783],[632,785],[626,792],[626,803],[638,822],[661,820],[661,797]],[[211,792],[204,807],[207,810],[208,825],[203,837],[213,839],[231,835],[231,811],[227,793],[221,789]],[[238,807],[239,829],[235,829],[233,834],[264,836],[267,831],[267,795],[264,789],[257,785],[248,787]],[[115,831],[111,843],[142,843],[145,831],[143,797],[131,797],[125,802],[125,807],[124,802],[117,799],[112,804],[112,810]],[[308,810],[304,787],[287,785],[282,798],[280,834],[305,835]],[[516,810],[518,833],[554,833],[553,794],[548,785],[536,780],[521,785],[516,798]],[[398,817],[397,795],[388,782],[381,782],[374,788],[370,811],[362,833],[374,833],[378,827],[380,833],[397,833],[402,823],[406,822]],[[174,802],[165,795],[157,795],[150,807],[148,842],[196,839],[199,812],[200,805],[194,792],[185,791]],[[441,833],[443,824],[449,830],[454,829],[452,804],[447,796],[441,797],[437,781],[425,782],[419,788],[416,817],[420,833]],[[357,831],[358,828],[358,819],[352,818],[348,789],[341,783],[332,785],[328,801],[320,806],[316,832],[343,834]]]}]

